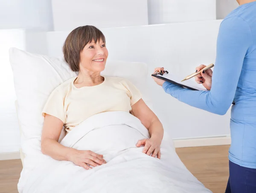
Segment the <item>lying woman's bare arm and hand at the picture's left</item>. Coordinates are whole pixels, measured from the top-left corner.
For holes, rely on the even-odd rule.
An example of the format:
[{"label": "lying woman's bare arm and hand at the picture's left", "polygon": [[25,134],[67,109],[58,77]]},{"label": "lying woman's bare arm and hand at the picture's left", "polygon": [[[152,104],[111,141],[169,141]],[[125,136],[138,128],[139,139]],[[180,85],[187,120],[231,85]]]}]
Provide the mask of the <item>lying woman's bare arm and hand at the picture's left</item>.
[{"label": "lying woman's bare arm and hand at the picture's left", "polygon": [[76,150],[58,143],[63,122],[55,116],[45,114],[44,127],[41,136],[42,153],[55,160],[72,161],[74,164],[91,169],[87,164],[96,167],[106,163],[102,155],[90,150]]}]

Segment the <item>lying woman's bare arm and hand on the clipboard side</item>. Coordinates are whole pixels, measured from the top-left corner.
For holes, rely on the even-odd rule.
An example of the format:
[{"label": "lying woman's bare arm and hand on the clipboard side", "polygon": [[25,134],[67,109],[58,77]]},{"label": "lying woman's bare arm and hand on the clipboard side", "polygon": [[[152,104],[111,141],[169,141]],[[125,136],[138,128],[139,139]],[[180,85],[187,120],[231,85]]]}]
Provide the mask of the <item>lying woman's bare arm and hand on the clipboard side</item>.
[{"label": "lying woman's bare arm and hand on the clipboard side", "polygon": [[132,106],[131,114],[139,118],[141,123],[148,129],[150,139],[138,141],[137,147],[144,145],[143,153],[160,158],[160,145],[163,139],[163,125],[153,111],[140,99]]}]

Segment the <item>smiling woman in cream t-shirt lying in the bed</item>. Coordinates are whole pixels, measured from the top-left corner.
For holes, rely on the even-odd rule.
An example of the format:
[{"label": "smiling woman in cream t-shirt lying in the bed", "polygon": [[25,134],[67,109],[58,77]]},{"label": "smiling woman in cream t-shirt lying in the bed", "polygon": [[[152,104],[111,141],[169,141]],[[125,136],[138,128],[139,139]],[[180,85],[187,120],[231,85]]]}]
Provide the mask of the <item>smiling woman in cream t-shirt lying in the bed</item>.
[{"label": "smiling woman in cream t-shirt lying in the bed", "polygon": [[108,58],[105,36],[94,26],[81,26],[67,37],[64,59],[78,76],[53,90],[43,109],[42,153],[55,160],[72,161],[91,169],[105,164],[102,155],[90,150],[76,150],[58,143],[62,127],[68,133],[90,116],[107,111],[125,111],[140,119],[150,138],[138,141],[143,153],[160,158],[163,126],[141,98],[140,91],[124,78],[104,77]]}]

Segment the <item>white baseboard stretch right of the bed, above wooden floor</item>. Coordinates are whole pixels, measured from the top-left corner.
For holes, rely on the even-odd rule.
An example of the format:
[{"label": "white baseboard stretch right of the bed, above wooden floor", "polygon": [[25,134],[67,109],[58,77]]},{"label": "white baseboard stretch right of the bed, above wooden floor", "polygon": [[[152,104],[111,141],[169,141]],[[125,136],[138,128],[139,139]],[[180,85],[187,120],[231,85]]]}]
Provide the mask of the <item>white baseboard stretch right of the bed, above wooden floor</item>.
[{"label": "white baseboard stretch right of the bed, above wooden floor", "polygon": [[175,148],[178,147],[199,147],[213,145],[230,145],[230,136],[208,137],[208,138],[192,138],[192,139],[174,139]]}]

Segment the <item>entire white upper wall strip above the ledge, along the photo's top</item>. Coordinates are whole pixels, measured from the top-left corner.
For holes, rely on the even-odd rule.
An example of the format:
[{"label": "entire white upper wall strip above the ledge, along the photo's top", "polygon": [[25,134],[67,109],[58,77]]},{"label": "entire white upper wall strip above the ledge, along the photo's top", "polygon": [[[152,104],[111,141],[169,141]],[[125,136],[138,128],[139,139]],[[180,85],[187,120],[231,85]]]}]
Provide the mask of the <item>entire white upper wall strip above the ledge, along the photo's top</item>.
[{"label": "entire white upper wall strip above the ledge, along the photo's top", "polygon": [[0,29],[52,31],[87,24],[113,27],[214,20],[238,6],[236,0],[0,0]]}]

